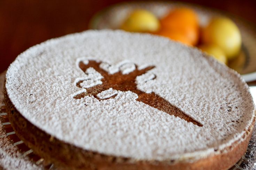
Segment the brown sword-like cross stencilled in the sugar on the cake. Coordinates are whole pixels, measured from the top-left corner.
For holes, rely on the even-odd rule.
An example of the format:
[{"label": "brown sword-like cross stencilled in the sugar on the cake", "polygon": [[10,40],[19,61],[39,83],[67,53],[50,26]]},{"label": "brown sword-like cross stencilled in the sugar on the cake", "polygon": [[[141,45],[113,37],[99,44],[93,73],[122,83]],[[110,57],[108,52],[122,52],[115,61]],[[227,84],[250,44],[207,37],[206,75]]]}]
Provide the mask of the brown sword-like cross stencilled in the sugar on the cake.
[{"label": "brown sword-like cross stencilled in the sugar on the cake", "polygon": [[[128,71],[129,73],[127,74],[124,74],[125,69],[123,71],[118,70],[116,73],[110,74],[105,69],[102,69],[101,64],[102,62],[97,62],[94,60],[89,60],[87,64],[85,64],[82,61],[79,62],[80,69],[82,69],[85,73],[87,72],[87,75],[88,73],[90,74],[90,71],[96,71],[96,73],[98,73],[94,74],[94,80],[90,79],[89,76],[88,79],[80,80],[76,83],[78,87],[86,88],[86,92],[75,95],[74,99],[81,99],[88,95],[94,96],[98,100],[107,100],[110,98],[114,98],[117,94],[111,95],[107,98],[102,98],[99,96],[99,94],[109,89],[114,89],[116,91],[122,92],[131,91],[138,95],[138,98],[136,99],[137,101],[143,102],[149,105],[150,107],[156,108],[170,115],[184,119],[187,122],[192,122],[197,126],[203,126],[200,122],[189,117],[179,108],[172,105],[171,103],[163,99],[161,96],[155,94],[154,92],[145,93],[137,88],[136,77],[146,74],[147,71],[153,69],[155,66],[149,66],[143,69],[138,69],[137,65],[133,65],[133,71],[130,70]],[[155,78],[155,75],[151,77],[151,79]]]}]

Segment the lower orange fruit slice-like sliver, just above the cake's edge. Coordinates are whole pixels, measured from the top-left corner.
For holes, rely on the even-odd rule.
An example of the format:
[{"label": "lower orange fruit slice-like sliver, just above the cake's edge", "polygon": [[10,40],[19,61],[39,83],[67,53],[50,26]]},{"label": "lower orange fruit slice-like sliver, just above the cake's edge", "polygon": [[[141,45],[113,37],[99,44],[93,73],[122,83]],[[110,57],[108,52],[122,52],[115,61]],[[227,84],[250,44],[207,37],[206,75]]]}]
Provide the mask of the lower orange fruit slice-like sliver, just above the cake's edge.
[{"label": "lower orange fruit slice-like sliver, just above the cake's edge", "polygon": [[184,34],[180,32],[170,32],[170,31],[161,30],[160,32],[157,33],[157,35],[168,37],[171,40],[179,41],[183,44],[192,46],[191,41]]}]

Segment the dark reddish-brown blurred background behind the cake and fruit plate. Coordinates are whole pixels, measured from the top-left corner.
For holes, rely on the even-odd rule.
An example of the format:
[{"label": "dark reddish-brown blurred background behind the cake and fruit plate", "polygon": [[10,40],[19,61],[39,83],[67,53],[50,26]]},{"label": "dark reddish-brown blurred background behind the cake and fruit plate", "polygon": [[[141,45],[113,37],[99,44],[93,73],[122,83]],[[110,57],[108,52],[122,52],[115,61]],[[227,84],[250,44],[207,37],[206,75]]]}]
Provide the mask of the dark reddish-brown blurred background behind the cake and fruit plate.
[{"label": "dark reddish-brown blurred background behind the cake and fruit plate", "polygon": [[[123,0],[0,0],[0,72],[30,46],[81,32],[99,10]],[[256,25],[256,1],[183,0],[240,16]]]}]

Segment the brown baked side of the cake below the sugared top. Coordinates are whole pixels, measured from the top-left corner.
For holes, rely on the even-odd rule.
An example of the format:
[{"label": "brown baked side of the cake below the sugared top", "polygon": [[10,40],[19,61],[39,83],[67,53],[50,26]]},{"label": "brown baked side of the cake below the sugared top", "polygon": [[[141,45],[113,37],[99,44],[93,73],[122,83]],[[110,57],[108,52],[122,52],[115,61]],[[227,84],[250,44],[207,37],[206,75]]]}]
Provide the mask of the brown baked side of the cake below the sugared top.
[{"label": "brown baked side of the cake below the sugared top", "polygon": [[[212,154],[206,158],[196,161],[170,160],[170,161],[142,161],[121,156],[112,156],[84,150],[77,146],[65,143],[32,125],[25,119],[15,106],[11,103],[4,86],[4,96],[6,110],[9,121],[17,136],[33,150],[47,161],[57,165],[60,169],[228,169],[231,168],[246,152],[250,137],[255,124],[253,122],[242,136],[243,141],[237,140],[230,146],[220,151],[220,154]],[[24,133],[30,132],[30,133]]]}]

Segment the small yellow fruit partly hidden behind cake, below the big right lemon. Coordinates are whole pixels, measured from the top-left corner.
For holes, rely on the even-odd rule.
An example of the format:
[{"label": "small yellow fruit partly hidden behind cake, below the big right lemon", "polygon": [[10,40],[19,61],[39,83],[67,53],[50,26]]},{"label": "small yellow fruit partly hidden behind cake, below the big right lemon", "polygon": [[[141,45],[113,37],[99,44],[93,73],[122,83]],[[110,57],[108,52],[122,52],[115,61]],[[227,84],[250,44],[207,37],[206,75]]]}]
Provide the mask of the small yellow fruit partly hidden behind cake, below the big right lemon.
[{"label": "small yellow fruit partly hidden behind cake, below the big right lemon", "polygon": [[199,46],[199,48],[203,52],[217,59],[219,62],[227,64],[227,57],[225,56],[224,51],[219,46],[215,44],[204,44]]}]

